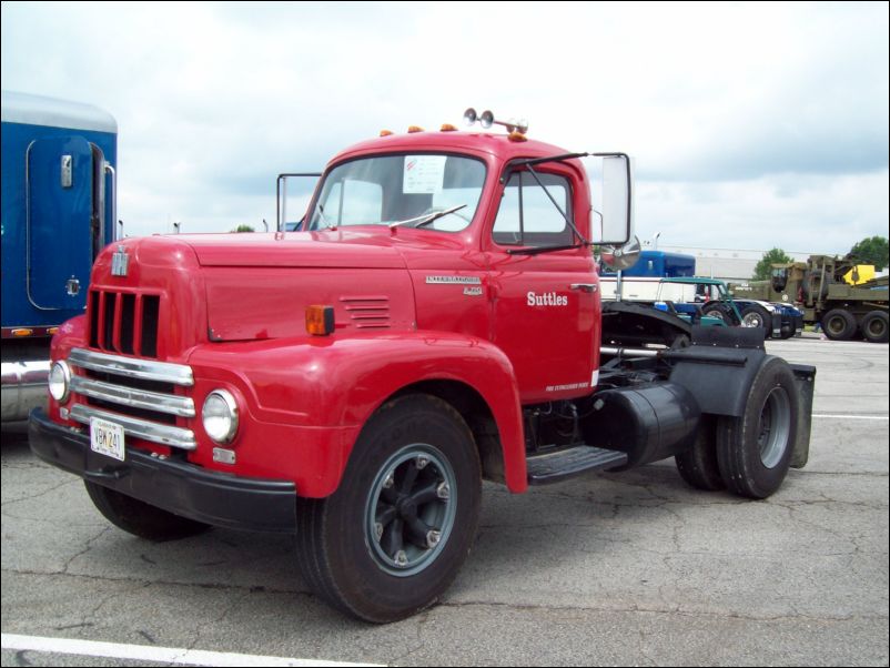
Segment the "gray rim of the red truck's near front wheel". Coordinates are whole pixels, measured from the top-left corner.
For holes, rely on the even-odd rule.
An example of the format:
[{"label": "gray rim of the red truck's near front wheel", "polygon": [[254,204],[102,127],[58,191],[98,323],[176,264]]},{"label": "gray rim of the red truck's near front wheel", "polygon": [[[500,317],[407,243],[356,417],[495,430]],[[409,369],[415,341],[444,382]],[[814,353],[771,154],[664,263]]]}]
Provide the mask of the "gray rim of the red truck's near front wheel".
[{"label": "gray rim of the red truck's near front wheel", "polygon": [[435,561],[454,529],[456,493],[454,469],[436,447],[415,443],[392,455],[365,503],[365,543],[377,567],[408,577]]}]

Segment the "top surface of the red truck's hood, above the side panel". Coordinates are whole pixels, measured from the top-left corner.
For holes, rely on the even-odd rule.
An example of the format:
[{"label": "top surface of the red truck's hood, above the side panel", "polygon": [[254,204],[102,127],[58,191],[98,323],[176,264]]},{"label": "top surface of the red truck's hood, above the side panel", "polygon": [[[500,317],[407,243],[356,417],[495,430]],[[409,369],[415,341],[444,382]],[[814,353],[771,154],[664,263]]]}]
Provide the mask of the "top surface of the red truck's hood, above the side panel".
[{"label": "top surface of the red truck's hood, above the side panel", "polygon": [[402,254],[376,233],[194,234],[189,244],[201,266],[405,269]]}]

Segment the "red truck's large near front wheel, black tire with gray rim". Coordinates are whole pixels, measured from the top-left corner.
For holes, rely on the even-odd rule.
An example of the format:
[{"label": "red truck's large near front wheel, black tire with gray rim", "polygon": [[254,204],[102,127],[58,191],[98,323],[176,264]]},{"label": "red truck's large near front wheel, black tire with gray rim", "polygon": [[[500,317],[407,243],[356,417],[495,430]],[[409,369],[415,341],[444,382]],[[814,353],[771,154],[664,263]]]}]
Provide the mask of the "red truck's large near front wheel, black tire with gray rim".
[{"label": "red truck's large near front wheel, black tire with gray rim", "polygon": [[428,395],[383,406],[353,448],[337,490],[297,502],[297,554],[328,604],[374,623],[438,599],[476,534],[482,476],[461,415]]}]

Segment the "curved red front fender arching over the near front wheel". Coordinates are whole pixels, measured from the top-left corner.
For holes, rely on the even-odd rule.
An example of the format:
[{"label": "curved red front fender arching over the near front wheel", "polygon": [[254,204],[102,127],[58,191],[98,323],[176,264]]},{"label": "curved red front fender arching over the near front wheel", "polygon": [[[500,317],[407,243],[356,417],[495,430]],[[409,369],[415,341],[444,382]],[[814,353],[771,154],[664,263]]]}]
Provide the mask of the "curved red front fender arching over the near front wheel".
[{"label": "curved red front fender arching over the near front wheel", "polygon": [[[371,415],[408,385],[424,381],[466,384],[483,397],[497,424],[508,488],[526,489],[522,409],[513,365],[487,341],[412,331],[214,343],[194,348],[189,363],[195,373],[195,389],[210,391],[214,383],[234,385],[244,395],[252,419],[336,429],[356,437]],[[198,402],[203,397],[195,399]],[[338,484],[354,442],[354,437],[327,441],[325,447],[340,452],[325,458],[338,463],[336,474],[328,470],[326,478],[334,475]]]}]

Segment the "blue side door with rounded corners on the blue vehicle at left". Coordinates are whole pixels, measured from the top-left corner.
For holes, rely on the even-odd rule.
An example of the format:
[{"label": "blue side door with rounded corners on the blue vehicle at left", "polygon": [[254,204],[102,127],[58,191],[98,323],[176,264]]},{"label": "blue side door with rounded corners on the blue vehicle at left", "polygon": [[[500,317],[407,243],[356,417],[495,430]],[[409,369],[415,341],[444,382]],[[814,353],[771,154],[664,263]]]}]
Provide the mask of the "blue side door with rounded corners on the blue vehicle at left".
[{"label": "blue side door with rounded corners on the blue vehicle at left", "polygon": [[41,311],[82,311],[102,247],[102,151],[82,136],[40,139],[27,154],[28,298]]}]

